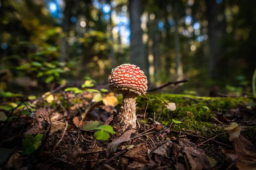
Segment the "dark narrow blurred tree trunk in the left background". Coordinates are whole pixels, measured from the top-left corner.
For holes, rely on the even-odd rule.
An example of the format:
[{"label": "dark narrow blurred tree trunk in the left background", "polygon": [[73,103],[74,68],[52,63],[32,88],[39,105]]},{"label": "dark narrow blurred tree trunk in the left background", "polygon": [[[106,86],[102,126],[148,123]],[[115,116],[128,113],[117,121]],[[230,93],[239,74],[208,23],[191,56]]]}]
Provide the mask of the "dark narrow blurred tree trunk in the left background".
[{"label": "dark narrow blurred tree trunk in the left background", "polygon": [[61,41],[61,61],[65,61],[69,58],[69,45],[67,42],[68,32],[70,30],[70,17],[71,17],[71,8],[73,5],[73,0],[65,0],[66,5],[64,9],[64,17],[63,17],[63,31],[65,33],[65,37],[62,38]]}]

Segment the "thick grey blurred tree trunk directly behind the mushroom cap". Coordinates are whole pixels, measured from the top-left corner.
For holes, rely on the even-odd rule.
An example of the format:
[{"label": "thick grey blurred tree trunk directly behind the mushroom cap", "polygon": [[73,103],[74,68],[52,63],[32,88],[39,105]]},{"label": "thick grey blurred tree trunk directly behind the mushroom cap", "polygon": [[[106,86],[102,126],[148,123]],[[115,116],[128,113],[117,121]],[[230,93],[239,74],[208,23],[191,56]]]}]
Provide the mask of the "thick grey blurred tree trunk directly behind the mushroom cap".
[{"label": "thick grey blurred tree trunk directly behind the mushroom cap", "polygon": [[148,67],[142,41],[140,16],[142,11],[141,0],[130,0],[130,25],[131,25],[131,63],[137,65],[148,76]]}]

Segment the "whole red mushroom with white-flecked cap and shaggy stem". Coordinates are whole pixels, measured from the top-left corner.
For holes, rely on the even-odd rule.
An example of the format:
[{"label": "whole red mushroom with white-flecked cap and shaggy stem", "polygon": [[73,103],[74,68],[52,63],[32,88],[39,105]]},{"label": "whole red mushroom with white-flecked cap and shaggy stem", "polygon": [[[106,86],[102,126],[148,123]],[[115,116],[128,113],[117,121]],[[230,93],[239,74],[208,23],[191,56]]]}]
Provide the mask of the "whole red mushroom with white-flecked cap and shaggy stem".
[{"label": "whole red mushroom with white-flecked cap and shaggy stem", "polygon": [[122,107],[119,111],[121,131],[130,125],[136,129],[135,97],[146,94],[148,80],[144,72],[136,65],[122,64],[112,69],[108,76],[108,87],[116,94],[122,94]]}]

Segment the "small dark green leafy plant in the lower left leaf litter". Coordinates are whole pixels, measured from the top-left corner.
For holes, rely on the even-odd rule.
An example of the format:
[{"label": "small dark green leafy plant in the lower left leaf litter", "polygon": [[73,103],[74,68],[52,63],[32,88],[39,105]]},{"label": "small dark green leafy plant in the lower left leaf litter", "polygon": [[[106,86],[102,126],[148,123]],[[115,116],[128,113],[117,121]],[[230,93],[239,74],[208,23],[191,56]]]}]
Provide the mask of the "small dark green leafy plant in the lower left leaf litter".
[{"label": "small dark green leafy plant in the lower left leaf litter", "polygon": [[41,144],[43,136],[43,134],[38,134],[34,137],[31,134],[26,134],[25,139],[22,139],[22,145],[23,147],[26,147],[25,150],[23,150],[22,155],[29,155],[37,150]]}]

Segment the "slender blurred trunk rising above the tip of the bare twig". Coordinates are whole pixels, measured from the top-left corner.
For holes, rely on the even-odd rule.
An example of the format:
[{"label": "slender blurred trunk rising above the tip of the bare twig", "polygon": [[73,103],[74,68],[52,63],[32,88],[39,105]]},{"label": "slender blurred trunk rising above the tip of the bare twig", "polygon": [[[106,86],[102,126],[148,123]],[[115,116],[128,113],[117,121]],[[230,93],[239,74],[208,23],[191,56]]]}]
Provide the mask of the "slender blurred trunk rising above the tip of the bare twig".
[{"label": "slender blurred trunk rising above the tip of the bare twig", "polygon": [[180,55],[180,36],[179,36],[179,16],[178,16],[178,3],[175,2],[174,6],[174,22],[175,22],[175,34],[174,34],[174,43],[175,43],[175,62],[176,62],[176,74],[177,79],[182,79],[183,77],[183,66]]}]

